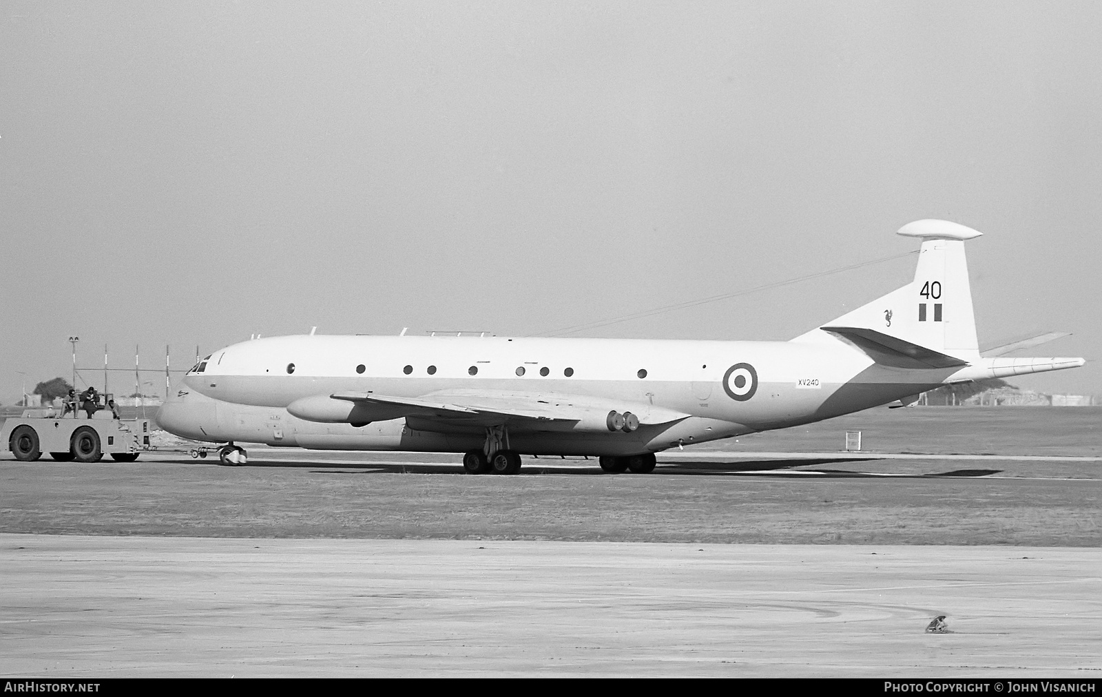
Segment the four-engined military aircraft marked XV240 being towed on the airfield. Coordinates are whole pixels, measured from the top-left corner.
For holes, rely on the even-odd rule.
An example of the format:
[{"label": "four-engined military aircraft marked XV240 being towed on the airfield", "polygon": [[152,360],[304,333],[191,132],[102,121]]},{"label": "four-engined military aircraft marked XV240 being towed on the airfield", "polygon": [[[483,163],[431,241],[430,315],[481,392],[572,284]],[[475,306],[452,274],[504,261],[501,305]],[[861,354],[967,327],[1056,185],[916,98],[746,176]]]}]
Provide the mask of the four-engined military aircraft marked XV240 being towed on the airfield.
[{"label": "four-engined military aircraft marked XV240 being towed on the airfield", "polygon": [[158,422],[228,443],[223,462],[245,461],[239,441],[462,452],[471,473],[516,473],[521,453],[649,472],[671,447],[1083,365],[981,355],[964,259],[981,233],[918,221],[899,234],[922,240],[915,280],[788,342],[274,336],[201,361]]}]

